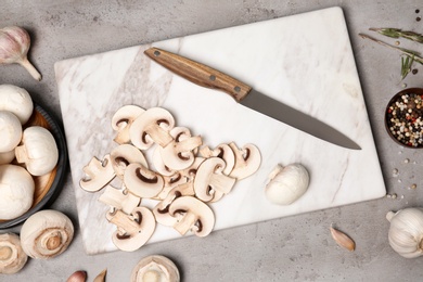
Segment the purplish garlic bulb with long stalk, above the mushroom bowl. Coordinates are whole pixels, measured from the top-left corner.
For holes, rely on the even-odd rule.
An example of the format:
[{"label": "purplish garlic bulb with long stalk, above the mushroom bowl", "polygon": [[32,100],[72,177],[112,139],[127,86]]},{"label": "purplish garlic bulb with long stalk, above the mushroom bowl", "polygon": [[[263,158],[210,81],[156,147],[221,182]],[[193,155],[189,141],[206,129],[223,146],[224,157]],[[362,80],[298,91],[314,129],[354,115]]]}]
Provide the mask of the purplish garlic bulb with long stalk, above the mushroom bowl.
[{"label": "purplish garlic bulb with long stalk, above the mushroom bowl", "polygon": [[40,73],[27,57],[29,47],[30,38],[24,28],[10,26],[0,29],[0,64],[21,64],[35,79],[40,81]]}]

